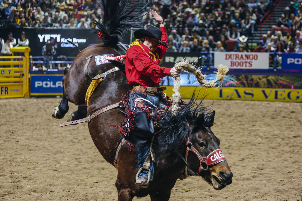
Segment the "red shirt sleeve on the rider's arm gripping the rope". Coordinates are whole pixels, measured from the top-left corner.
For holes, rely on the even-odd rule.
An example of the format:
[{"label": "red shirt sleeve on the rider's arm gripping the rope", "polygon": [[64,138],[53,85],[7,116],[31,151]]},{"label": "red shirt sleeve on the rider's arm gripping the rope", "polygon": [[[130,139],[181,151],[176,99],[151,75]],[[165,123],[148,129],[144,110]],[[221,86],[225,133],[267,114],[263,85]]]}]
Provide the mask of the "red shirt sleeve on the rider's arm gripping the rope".
[{"label": "red shirt sleeve on the rider's arm gripping the rope", "polygon": [[147,53],[144,52],[141,47],[132,46],[128,51],[127,57],[141,74],[157,78],[170,75],[170,68],[160,67],[159,65],[152,63],[147,56]]}]

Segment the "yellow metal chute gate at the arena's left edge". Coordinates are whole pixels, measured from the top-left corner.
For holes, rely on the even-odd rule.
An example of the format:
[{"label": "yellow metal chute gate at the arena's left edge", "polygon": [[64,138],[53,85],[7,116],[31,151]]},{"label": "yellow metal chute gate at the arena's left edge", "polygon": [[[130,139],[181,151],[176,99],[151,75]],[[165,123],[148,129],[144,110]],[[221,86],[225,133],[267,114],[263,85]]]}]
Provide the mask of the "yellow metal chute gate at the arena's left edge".
[{"label": "yellow metal chute gate at the arena's left edge", "polygon": [[[28,97],[30,51],[29,47],[14,47],[12,56],[0,57],[0,98]],[[24,56],[14,56],[17,52]]]}]

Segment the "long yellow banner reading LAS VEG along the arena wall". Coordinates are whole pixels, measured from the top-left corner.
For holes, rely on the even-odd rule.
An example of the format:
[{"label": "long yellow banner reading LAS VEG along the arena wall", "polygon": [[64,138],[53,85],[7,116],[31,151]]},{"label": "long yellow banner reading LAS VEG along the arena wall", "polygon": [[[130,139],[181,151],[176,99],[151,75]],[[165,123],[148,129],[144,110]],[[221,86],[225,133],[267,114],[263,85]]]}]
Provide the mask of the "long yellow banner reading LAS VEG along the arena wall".
[{"label": "long yellow banner reading LAS VEG along the arena wall", "polygon": [[[172,86],[167,86],[165,93],[171,97]],[[200,89],[200,91],[199,91]],[[227,100],[255,100],[255,101],[285,101],[302,102],[301,89],[273,89],[273,88],[246,88],[246,87],[213,87],[197,88],[192,86],[180,87],[182,99],[190,99],[194,90],[197,90],[198,98],[227,99]]]}]

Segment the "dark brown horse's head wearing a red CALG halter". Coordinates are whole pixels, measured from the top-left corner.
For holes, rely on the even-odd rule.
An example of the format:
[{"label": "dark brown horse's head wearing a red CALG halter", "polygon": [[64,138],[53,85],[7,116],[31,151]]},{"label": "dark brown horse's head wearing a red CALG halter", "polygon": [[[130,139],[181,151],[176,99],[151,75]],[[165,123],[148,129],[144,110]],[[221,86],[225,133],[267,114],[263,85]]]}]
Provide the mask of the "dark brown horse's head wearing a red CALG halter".
[{"label": "dark brown horse's head wearing a red CALG halter", "polygon": [[[213,151],[220,149],[220,140],[210,129],[214,124],[214,114],[214,111],[208,115],[204,115],[204,113],[199,114],[195,121],[189,125],[190,142],[204,160]],[[222,152],[216,152],[216,155],[214,155],[215,152],[213,152],[207,161],[215,163],[217,159],[217,163],[214,165],[206,165],[205,163],[201,164],[198,156],[194,154],[194,152],[189,151],[188,166],[211,184],[214,189],[220,190],[232,183],[233,173],[226,161],[219,161],[224,157]],[[209,163],[207,162],[207,164]],[[201,165],[202,167],[200,168]]]}]

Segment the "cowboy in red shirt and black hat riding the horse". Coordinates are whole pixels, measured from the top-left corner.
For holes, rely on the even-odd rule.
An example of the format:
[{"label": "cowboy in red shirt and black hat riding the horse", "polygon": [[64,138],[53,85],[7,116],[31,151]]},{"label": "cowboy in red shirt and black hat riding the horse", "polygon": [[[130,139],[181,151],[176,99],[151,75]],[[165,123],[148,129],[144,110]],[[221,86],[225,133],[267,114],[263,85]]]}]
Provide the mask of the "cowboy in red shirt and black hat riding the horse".
[{"label": "cowboy in red shirt and black hat riding the horse", "polygon": [[[156,11],[150,10],[152,18],[159,24],[159,28],[150,26],[146,30],[139,29],[134,32],[137,39],[136,43],[127,50],[126,57],[126,76],[128,83],[133,87],[130,93],[128,105],[130,109],[136,107],[135,99],[145,99],[153,105],[159,106],[160,78],[165,76],[179,77],[180,71],[175,68],[160,67],[159,60],[164,56],[168,48],[168,37],[166,27],[162,17]],[[151,90],[151,91],[150,91]],[[138,145],[138,168],[143,166],[147,157],[150,145]],[[153,179],[154,164],[150,163],[151,178]],[[147,187],[148,171],[142,169],[136,180],[136,185]]]}]

